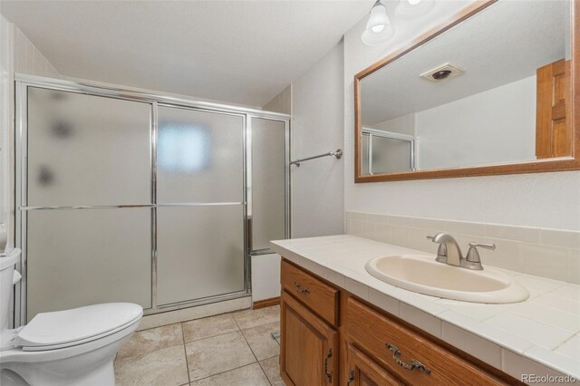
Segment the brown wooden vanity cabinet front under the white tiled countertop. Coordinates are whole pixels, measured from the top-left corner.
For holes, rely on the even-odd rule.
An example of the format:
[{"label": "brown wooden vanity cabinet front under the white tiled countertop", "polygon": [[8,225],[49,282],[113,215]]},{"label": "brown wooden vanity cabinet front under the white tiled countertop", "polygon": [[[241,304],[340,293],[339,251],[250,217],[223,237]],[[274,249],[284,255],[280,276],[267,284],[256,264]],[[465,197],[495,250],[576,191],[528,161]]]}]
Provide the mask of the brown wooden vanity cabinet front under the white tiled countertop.
[{"label": "brown wooden vanity cabinet front under the white tiled countertop", "polygon": [[287,385],[522,384],[284,259],[281,272]]}]

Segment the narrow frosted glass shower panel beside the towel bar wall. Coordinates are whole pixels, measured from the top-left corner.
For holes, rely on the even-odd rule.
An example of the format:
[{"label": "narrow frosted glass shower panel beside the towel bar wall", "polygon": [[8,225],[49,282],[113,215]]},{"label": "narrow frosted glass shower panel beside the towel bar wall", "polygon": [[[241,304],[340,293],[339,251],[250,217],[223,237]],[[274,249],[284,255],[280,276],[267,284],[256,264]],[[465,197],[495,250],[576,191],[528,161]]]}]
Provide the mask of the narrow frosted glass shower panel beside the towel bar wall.
[{"label": "narrow frosted glass shower panel beside the towel bar wall", "polygon": [[285,122],[252,119],[252,249],[285,238]]}]

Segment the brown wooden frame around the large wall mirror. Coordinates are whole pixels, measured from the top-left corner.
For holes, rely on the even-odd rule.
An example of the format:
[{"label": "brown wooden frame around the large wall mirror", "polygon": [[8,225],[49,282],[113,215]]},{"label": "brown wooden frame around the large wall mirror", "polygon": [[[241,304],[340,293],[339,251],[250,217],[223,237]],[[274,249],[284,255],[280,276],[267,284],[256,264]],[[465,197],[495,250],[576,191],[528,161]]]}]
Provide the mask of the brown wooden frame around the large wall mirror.
[{"label": "brown wooden frame around the large wall mirror", "polygon": [[444,24],[440,24],[425,34],[420,35],[408,46],[389,54],[380,61],[373,63],[362,72],[354,75],[354,182],[401,181],[408,179],[449,179],[457,177],[493,176],[500,174],[541,173],[547,171],[566,171],[580,169],[580,0],[572,0],[571,6],[571,130],[572,153],[570,157],[553,159],[536,159],[518,163],[498,164],[491,166],[461,167],[453,169],[416,170],[391,174],[361,175],[361,81],[364,77],[376,72],[387,64],[399,59],[421,44],[429,42],[434,37],[443,34],[453,26],[463,22],[479,11],[494,4],[498,0],[486,0],[469,5],[459,13],[454,14]]}]

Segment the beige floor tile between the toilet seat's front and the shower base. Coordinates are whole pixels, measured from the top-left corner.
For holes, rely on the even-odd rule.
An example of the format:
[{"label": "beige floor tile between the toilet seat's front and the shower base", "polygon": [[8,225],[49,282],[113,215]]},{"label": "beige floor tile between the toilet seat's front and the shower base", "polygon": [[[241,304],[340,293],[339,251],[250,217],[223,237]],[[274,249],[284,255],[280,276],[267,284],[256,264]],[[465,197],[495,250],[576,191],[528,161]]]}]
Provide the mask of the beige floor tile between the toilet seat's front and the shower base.
[{"label": "beige floor tile between the toilet seat's front and the shower base", "polygon": [[133,360],[137,360],[150,352],[177,345],[183,345],[181,325],[179,323],[164,325],[133,333],[130,340],[121,346],[117,358],[132,357]]}]

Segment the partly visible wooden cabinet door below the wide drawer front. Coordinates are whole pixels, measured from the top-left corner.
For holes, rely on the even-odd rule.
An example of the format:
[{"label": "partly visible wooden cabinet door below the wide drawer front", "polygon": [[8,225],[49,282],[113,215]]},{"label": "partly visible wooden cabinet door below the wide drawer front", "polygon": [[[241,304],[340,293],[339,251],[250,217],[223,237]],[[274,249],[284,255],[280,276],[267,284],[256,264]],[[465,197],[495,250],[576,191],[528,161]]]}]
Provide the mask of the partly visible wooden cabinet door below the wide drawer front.
[{"label": "partly visible wooden cabinet door below the wide drawer front", "polygon": [[401,385],[371,358],[359,351],[351,343],[346,343],[346,386],[386,386]]}]

